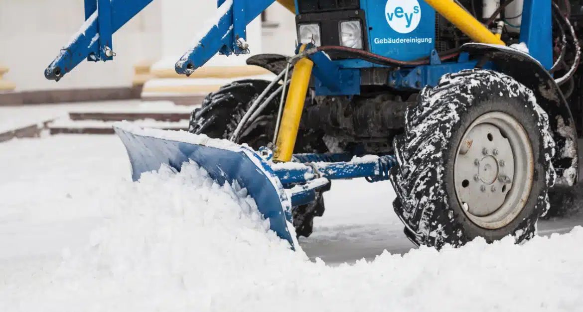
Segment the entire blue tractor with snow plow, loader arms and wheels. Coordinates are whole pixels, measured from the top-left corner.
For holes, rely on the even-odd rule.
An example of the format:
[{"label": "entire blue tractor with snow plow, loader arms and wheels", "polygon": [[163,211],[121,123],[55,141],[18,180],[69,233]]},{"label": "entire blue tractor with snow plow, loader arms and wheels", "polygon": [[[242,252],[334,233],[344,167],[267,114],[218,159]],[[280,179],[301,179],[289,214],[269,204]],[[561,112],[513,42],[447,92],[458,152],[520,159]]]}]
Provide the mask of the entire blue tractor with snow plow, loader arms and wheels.
[{"label": "entire blue tractor with snow plow, loader arms and wheels", "polygon": [[[150,1],[85,0],[85,24],[45,77],[113,59],[111,34]],[[274,1],[218,0],[176,72],[248,53],[245,26]],[[578,1],[279,2],[296,14],[296,51],[247,61],[275,80],[209,94],[188,133],[115,126],[134,179],[194,161],[245,187],[292,248],[334,179],[390,180],[417,245],[519,243],[557,213],[549,196],[578,180]]]}]

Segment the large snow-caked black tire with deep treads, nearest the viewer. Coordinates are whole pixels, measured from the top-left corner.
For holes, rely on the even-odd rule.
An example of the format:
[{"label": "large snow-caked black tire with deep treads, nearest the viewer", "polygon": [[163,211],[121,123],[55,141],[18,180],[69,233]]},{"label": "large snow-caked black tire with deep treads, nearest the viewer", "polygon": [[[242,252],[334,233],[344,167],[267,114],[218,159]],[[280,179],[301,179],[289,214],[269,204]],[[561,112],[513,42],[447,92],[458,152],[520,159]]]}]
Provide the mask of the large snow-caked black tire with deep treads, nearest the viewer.
[{"label": "large snow-caked black tire with deep treads, nearest the viewer", "polygon": [[[508,166],[506,169],[501,168],[504,162],[498,160],[500,157],[493,157],[490,154],[492,150],[485,147],[488,144],[485,140],[492,141],[488,134],[487,138],[484,135],[483,138],[480,136],[469,142],[469,150],[465,153],[477,153],[476,150],[471,150],[477,147],[482,149],[484,157],[475,158],[476,168],[465,170],[463,174],[472,175],[472,170],[475,170],[481,175],[482,165],[486,162],[484,159],[487,159],[493,161],[488,166],[488,174],[493,172],[491,176],[494,180],[484,182],[485,178],[476,173],[473,180],[463,179],[462,183],[466,186],[455,185],[462,180],[455,180],[454,175],[454,167],[458,164],[456,159],[462,153],[462,139],[467,142],[471,134],[468,130],[475,129],[475,123],[483,120],[483,116],[494,116],[491,114],[498,113],[500,116],[510,116],[522,126],[521,133],[524,136],[521,142],[528,141],[531,147],[523,150],[531,161],[525,164],[518,162],[519,159],[512,160],[512,167],[515,165],[514,161],[517,161],[517,168],[518,165],[521,165],[520,168],[528,168],[532,179],[516,179],[518,186],[514,186],[513,179],[510,187],[505,190],[505,195],[499,188],[497,192],[503,192],[502,195],[491,190],[491,196],[497,196],[496,200],[503,200],[504,203],[500,208],[494,207],[498,210],[488,212],[490,215],[476,217],[464,209],[468,208],[467,204],[462,208],[457,193],[461,187],[480,187],[484,192],[479,184],[468,186],[467,183],[501,183],[500,180],[508,178],[498,178],[498,172],[504,173],[504,170],[512,171],[513,178],[515,174],[517,177],[524,174],[517,172],[518,169],[508,169]],[[555,173],[551,163],[554,141],[549,133],[548,116],[536,104],[531,90],[501,73],[483,69],[462,70],[443,76],[436,87],[424,88],[418,104],[408,108],[405,118],[405,132],[394,140],[398,165],[391,169],[390,179],[397,194],[394,209],[405,224],[405,233],[409,239],[416,244],[441,248],[445,244],[462,246],[476,237],[493,242],[512,235],[515,242],[519,243],[535,235],[536,221],[548,209],[547,190],[554,184]],[[508,146],[511,147],[510,159],[514,159],[514,153],[518,153],[515,150],[518,148],[512,146],[512,140],[517,139],[514,136],[514,139],[508,139],[503,133],[503,130],[494,133],[500,136],[494,143],[508,141]],[[528,146],[528,143],[521,143],[521,146]],[[458,174],[462,174],[459,172],[461,170],[458,170]],[[521,180],[526,182],[520,182]],[[490,187],[487,186],[487,192],[490,192]],[[510,205],[506,203],[508,198],[512,199]],[[472,204],[477,207],[480,202]],[[508,211],[505,217],[500,214],[502,208]],[[497,221],[494,217],[498,215],[504,218]],[[487,223],[486,220],[493,223]]]}]

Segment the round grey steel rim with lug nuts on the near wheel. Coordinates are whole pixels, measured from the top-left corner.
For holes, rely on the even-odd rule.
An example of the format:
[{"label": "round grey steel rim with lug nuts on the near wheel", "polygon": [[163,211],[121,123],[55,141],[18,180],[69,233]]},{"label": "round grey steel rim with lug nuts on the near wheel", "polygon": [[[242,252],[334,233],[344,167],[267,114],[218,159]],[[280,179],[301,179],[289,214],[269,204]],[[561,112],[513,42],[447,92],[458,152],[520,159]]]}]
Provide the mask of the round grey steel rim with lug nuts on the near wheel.
[{"label": "round grey steel rim with lug nuts on the near wheel", "polygon": [[474,120],[454,161],[459,205],[476,225],[499,229],[524,209],[534,176],[532,146],[524,127],[503,112]]}]

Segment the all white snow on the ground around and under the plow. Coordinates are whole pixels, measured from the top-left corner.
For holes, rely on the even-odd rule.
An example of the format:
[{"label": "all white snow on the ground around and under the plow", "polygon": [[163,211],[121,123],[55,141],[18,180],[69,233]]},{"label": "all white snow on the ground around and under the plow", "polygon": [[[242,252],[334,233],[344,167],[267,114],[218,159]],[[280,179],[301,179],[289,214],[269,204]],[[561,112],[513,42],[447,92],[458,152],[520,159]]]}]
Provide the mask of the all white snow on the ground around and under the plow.
[{"label": "all white snow on the ground around and under the plow", "polygon": [[0,311],[583,306],[581,227],[522,246],[476,240],[439,253],[422,247],[327,265],[310,261],[308,248],[402,231],[389,183],[333,184],[314,236],[294,253],[267,231],[250,198],[213,184],[196,165],[132,183],[127,162],[111,136],[0,144]]}]

